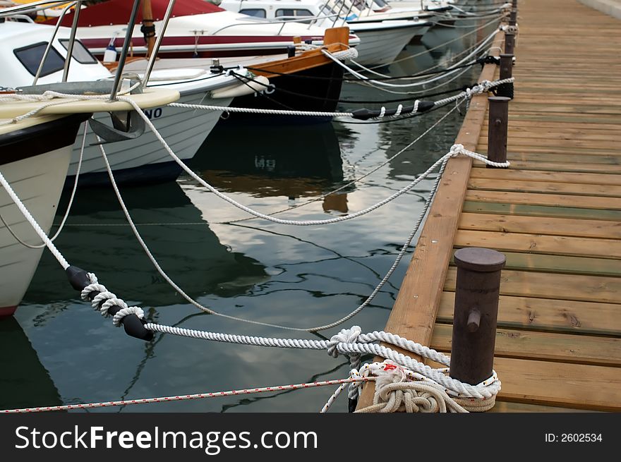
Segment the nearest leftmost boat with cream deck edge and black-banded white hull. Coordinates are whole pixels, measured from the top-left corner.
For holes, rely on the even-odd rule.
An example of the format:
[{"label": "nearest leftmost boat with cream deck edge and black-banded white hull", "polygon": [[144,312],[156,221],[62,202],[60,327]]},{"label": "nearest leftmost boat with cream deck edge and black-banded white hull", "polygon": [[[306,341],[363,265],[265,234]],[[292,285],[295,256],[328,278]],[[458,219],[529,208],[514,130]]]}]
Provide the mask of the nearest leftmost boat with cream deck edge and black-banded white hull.
[{"label": "nearest leftmost boat with cream deck edge and black-banded white hull", "polygon": [[[11,14],[11,8],[0,11],[0,17]],[[0,26],[10,23],[5,20]],[[25,56],[24,62],[35,63],[34,56]],[[53,62],[43,59],[44,73],[54,69]],[[11,68],[3,64],[5,71]],[[80,125],[97,112],[121,112],[129,118],[135,106],[150,109],[179,99],[176,90],[134,84],[117,73],[114,81],[4,88],[0,99],[0,317],[13,315],[35,273],[44,247],[29,219],[34,217],[42,231],[49,232]],[[133,90],[122,99],[115,97],[114,90],[125,85]]]}]

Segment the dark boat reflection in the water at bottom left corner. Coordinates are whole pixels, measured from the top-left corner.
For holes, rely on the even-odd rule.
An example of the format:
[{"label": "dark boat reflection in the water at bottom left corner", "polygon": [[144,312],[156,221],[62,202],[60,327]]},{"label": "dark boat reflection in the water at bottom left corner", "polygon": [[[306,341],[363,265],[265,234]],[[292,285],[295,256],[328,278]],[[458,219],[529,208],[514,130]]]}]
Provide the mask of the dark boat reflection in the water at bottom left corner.
[{"label": "dark boat reflection in the water at bottom left corner", "polygon": [[62,404],[49,372],[14,317],[0,320],[0,409]]}]

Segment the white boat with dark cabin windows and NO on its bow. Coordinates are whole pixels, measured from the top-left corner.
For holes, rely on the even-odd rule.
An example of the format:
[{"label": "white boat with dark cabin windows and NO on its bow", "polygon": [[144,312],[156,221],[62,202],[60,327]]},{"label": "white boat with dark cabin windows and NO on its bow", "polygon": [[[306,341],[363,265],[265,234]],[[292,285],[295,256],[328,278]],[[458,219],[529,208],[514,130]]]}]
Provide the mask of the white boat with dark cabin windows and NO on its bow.
[{"label": "white boat with dark cabin windows and NO on its bow", "polygon": [[[51,25],[11,20],[0,24],[0,39],[3,42],[3,47],[0,48],[0,62],[5,63],[3,85],[21,87],[30,85],[35,80],[38,63],[53,32],[54,27]],[[69,30],[59,28],[52,40],[46,65],[36,79],[37,85],[61,82],[68,40]],[[69,81],[109,80],[114,75],[109,68],[97,61],[79,40],[73,45],[73,59],[68,71],[66,80]],[[138,78],[142,77],[143,75],[138,75]],[[244,81],[248,79],[259,82]],[[212,72],[209,68],[195,68],[188,65],[153,71],[147,87],[177,90],[181,94],[179,99],[181,103],[227,107],[235,96],[264,90],[268,83],[267,79],[255,76],[244,68]],[[185,162],[195,154],[222,113],[162,106],[150,109],[146,114],[175,154]],[[100,121],[106,117],[106,114],[99,114],[96,120]],[[73,177],[77,174],[82,133],[80,130],[73,150],[67,184],[73,183]],[[89,142],[82,156],[80,186],[95,186],[109,182],[100,147],[92,144],[95,142],[97,142],[95,136],[89,135]],[[171,159],[156,135],[148,129],[140,138],[109,143],[104,147],[119,183],[165,181],[176,178],[181,172],[181,166]]]}]

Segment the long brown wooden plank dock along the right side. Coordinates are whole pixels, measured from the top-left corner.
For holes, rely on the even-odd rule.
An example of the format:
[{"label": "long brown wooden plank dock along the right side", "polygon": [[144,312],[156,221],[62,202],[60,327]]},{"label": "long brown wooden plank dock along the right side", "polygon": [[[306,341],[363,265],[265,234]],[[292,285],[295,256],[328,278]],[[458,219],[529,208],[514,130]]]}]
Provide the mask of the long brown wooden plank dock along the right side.
[{"label": "long brown wooden plank dock along the right side", "polygon": [[[621,20],[518,3],[512,165],[451,159],[385,330],[450,353],[452,255],[498,250],[493,411],[621,411]],[[475,97],[456,140],[483,154],[486,110]]]}]

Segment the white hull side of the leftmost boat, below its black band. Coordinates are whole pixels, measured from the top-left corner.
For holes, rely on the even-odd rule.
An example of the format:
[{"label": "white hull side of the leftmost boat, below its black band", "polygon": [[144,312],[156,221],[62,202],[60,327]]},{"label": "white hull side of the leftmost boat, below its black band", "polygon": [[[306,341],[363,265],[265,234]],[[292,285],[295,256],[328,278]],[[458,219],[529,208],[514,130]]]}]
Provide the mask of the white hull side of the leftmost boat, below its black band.
[{"label": "white hull side of the leftmost boat, below its black band", "polygon": [[[0,166],[4,178],[46,233],[56,214],[71,150],[69,145]],[[0,189],[0,214],[23,241],[41,243],[4,188]],[[28,289],[42,253],[43,248],[27,248],[16,241],[0,221],[0,316],[13,314]]]}]

